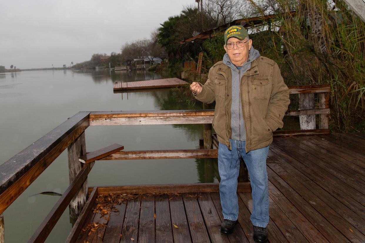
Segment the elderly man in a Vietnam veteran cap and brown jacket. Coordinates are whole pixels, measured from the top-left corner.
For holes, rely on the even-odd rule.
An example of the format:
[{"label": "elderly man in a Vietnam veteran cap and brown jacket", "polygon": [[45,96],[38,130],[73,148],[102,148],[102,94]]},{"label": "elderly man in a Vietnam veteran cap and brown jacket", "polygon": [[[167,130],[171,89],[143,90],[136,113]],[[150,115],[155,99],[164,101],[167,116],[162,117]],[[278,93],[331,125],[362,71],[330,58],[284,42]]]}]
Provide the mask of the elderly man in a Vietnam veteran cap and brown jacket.
[{"label": "elderly man in a Vietnam veteran cap and brown jacket", "polygon": [[224,32],[226,54],[209,70],[204,85],[190,85],[195,98],[215,101],[213,128],[217,133],[219,192],[223,223],[220,231],[233,232],[238,218],[237,178],[240,157],[246,163],[252,187],[254,240],[266,242],[269,194],[266,157],[272,133],[283,127],[289,90],[278,65],[260,56],[243,26]]}]

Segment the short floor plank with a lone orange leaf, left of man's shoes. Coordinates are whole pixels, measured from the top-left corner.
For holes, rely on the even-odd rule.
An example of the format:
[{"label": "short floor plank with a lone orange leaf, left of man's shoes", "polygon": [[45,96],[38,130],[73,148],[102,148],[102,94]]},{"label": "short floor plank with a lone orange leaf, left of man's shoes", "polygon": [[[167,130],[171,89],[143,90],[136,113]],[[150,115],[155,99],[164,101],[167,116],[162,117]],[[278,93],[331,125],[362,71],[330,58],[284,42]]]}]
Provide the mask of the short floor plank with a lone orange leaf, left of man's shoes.
[{"label": "short floor plank with a lone orange leaf, left of man's shoes", "polygon": [[191,242],[188,220],[181,195],[173,195],[169,198],[172,232],[175,243]]}]

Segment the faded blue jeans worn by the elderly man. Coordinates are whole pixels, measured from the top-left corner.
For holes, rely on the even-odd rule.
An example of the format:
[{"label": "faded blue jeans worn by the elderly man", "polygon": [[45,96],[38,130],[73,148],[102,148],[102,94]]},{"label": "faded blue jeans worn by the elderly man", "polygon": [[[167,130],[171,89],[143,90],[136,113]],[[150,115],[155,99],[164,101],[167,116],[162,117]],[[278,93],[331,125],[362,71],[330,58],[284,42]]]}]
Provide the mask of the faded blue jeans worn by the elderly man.
[{"label": "faded blue jeans worn by the elderly man", "polygon": [[237,220],[237,178],[239,174],[239,157],[246,163],[250,174],[253,212],[250,220],[254,226],[266,227],[269,223],[269,193],[266,158],[269,146],[251,150],[246,153],[246,141],[230,139],[232,150],[219,143],[218,169],[220,176],[219,193],[224,219]]}]

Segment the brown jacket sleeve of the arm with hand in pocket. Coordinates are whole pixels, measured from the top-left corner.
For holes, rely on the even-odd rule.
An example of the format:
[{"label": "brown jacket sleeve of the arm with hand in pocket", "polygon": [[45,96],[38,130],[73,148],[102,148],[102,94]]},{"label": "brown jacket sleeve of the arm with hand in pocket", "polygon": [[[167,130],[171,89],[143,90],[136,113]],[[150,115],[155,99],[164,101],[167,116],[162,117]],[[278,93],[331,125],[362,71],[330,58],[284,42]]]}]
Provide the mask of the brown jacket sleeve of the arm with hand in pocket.
[{"label": "brown jacket sleeve of the arm with hand in pocket", "polygon": [[265,117],[266,122],[273,131],[278,128],[283,128],[284,123],[282,120],[285,112],[288,110],[289,103],[288,86],[285,85],[284,79],[280,74],[280,69],[275,63],[268,112]]}]

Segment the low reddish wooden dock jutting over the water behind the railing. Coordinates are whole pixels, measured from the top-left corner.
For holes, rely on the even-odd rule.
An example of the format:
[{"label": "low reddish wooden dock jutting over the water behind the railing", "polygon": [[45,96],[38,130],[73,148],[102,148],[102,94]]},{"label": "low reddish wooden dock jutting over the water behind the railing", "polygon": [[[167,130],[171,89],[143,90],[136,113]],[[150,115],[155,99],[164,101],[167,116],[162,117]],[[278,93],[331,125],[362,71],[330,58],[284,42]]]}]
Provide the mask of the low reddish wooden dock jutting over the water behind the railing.
[{"label": "low reddish wooden dock jutting over the water behind the railing", "polygon": [[164,79],[154,79],[145,81],[135,81],[126,83],[115,83],[113,90],[138,90],[138,89],[157,89],[157,88],[168,88],[177,87],[188,84],[187,82],[178,78],[164,78]]}]

